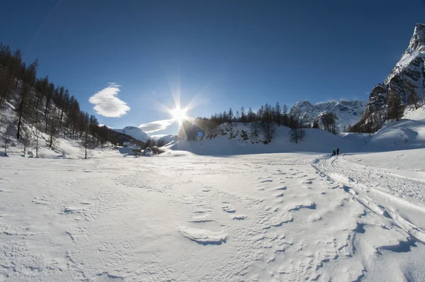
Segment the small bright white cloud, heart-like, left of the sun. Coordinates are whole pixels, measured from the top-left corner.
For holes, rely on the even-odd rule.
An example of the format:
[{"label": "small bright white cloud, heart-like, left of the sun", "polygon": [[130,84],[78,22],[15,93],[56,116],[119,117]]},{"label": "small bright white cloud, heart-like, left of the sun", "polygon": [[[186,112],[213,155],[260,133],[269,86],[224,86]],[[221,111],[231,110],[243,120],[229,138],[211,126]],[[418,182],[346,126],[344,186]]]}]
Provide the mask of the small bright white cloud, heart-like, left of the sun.
[{"label": "small bright white cloud, heart-like, left of the sun", "polygon": [[107,118],[120,118],[125,115],[130,111],[130,107],[117,97],[119,91],[120,85],[110,83],[108,87],[91,96],[89,102],[94,104],[94,111]]}]

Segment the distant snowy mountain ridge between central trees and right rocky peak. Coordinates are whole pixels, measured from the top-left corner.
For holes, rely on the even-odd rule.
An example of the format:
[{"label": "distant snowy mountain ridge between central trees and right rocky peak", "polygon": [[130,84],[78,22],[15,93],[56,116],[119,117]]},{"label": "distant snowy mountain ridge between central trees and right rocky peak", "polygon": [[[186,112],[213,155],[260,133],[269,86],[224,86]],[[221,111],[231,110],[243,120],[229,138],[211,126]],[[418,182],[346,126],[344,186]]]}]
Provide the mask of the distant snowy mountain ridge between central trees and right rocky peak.
[{"label": "distant snowy mountain ridge between central trees and right rocky peak", "polygon": [[308,120],[312,123],[312,120],[324,112],[333,112],[338,117],[336,124],[339,130],[343,130],[344,126],[353,125],[357,123],[363,112],[365,111],[366,101],[328,101],[320,102],[312,105],[309,101],[297,101],[295,105],[290,109],[291,111],[300,111],[301,118]]}]

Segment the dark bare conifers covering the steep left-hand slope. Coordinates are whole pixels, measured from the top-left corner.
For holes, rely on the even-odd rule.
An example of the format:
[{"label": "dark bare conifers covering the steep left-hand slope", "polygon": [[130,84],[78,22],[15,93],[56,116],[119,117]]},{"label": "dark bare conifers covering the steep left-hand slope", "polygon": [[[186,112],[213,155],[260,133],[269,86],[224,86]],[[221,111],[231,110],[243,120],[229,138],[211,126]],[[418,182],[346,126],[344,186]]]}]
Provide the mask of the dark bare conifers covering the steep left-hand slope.
[{"label": "dark bare conifers covering the steep left-hand slope", "polygon": [[11,52],[0,43],[0,115],[6,103],[15,105],[16,139],[31,141],[29,133],[35,128],[37,139],[40,132],[49,136],[49,147],[58,136],[83,139],[86,148],[120,141],[111,129],[99,127],[94,115],[81,111],[68,89],[55,85],[48,76],[38,78],[37,71],[38,59],[27,66],[20,49]]}]

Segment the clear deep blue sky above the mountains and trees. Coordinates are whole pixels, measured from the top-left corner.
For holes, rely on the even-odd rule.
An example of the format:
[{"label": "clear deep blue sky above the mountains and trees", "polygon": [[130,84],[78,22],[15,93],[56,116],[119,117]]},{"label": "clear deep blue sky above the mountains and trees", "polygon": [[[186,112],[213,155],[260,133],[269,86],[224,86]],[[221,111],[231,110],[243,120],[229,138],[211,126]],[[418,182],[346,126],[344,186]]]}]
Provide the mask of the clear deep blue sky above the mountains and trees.
[{"label": "clear deep blue sky above the mountains and trees", "polygon": [[66,86],[84,111],[95,113],[89,98],[102,90],[99,103],[127,104],[120,118],[96,113],[115,128],[171,118],[158,104],[173,108],[179,85],[182,106],[198,97],[193,117],[367,100],[425,22],[424,0],[15,0],[1,10],[0,40],[27,63],[38,57],[39,77]]}]

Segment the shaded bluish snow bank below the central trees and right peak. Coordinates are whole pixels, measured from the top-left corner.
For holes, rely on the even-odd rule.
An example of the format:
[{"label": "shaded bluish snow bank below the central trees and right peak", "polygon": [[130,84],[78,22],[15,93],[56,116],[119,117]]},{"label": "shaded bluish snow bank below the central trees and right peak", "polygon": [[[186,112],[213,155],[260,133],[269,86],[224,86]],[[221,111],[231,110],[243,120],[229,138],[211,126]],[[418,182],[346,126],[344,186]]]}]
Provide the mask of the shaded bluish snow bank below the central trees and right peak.
[{"label": "shaded bluish snow bank below the central trees and right peak", "polygon": [[[228,130],[229,125],[220,125]],[[339,147],[341,153],[382,152],[425,148],[425,106],[413,110],[408,108],[399,120],[387,120],[387,123],[375,134],[341,133],[333,135],[320,129],[304,129],[305,136],[295,144],[290,141],[289,128],[275,127],[271,143],[263,144],[264,137],[249,137],[243,140],[242,130],[251,132],[243,123],[233,123],[236,137],[218,135],[215,138],[199,140],[179,140],[167,147],[171,150],[188,151],[200,155],[266,154],[276,152],[317,152],[330,154]],[[223,129],[224,130],[224,129]],[[219,130],[220,131],[220,130]],[[226,131],[226,130],[224,130]]]}]

